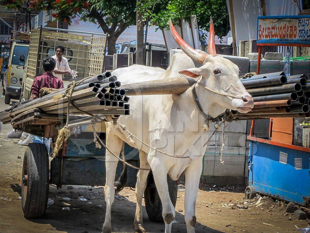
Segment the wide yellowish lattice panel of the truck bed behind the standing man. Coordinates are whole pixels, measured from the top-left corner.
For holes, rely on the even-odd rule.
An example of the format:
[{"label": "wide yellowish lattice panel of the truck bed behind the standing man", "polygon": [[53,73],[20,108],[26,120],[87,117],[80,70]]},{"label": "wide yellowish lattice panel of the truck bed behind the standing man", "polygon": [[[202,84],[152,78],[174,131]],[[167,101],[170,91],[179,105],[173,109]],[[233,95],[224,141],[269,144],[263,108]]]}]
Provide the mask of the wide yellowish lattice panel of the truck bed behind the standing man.
[{"label": "wide yellowish lattice panel of the truck bed behind the standing man", "polygon": [[[39,51],[39,74],[42,69],[42,59],[55,55],[57,45],[65,48],[64,57],[68,59],[71,70],[78,71],[78,76],[74,80],[81,80],[88,76],[88,54],[91,43],[91,36],[76,35],[62,32],[42,31]],[[71,81],[70,75],[64,75],[63,80]]]}]

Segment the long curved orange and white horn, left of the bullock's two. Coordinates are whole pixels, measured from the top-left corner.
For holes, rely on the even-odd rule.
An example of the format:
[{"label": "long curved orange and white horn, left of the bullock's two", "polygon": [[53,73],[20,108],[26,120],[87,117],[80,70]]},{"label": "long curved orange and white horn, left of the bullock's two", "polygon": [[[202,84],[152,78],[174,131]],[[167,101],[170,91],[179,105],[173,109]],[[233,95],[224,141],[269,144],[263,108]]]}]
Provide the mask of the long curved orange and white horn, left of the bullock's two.
[{"label": "long curved orange and white horn, left of the bullock's two", "polygon": [[[175,42],[180,46],[180,48],[183,50],[185,54],[187,54],[189,57],[193,58],[197,62],[203,63],[204,60],[207,57],[207,54],[199,53],[192,47],[190,47],[177,33],[175,30],[175,27],[172,24],[172,21],[170,19],[170,30],[172,32],[173,38],[175,39]],[[214,30],[213,30],[214,34]],[[214,41],[214,40],[213,40]]]}]

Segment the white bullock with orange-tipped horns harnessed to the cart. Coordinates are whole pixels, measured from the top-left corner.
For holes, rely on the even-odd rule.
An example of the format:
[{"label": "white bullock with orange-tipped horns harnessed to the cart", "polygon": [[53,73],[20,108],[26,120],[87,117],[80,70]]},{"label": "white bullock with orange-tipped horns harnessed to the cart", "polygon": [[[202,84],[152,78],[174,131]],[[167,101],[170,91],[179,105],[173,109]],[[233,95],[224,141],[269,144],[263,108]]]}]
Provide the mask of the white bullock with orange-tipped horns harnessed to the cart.
[{"label": "white bullock with orange-tipped horns harnessed to the cart", "polygon": [[[187,232],[192,233],[195,232],[195,205],[202,170],[202,156],[206,150],[203,144],[208,138],[208,132],[202,130],[201,127],[206,119],[196,107],[192,89],[196,90],[203,112],[211,117],[217,117],[227,108],[248,112],[253,107],[253,99],[239,80],[238,66],[223,57],[216,56],[212,21],[209,55],[207,56],[188,46],[176,33],[171,22],[170,28],[184,53],[173,55],[166,71],[161,68],[133,65],[117,69],[113,71],[113,75],[117,75],[118,80],[123,84],[190,76],[199,79],[200,85],[193,85],[179,95],[134,96],[129,101],[130,116],[121,116],[118,121],[120,124],[126,125],[127,130],[148,145],[166,153],[186,158],[174,158],[159,153],[135,139],[132,142],[128,138],[128,133],[120,128],[120,124],[114,126],[110,122],[107,123],[106,145],[116,155],[120,154],[123,142],[139,149],[140,167],[151,168],[153,171],[155,184],[162,201],[162,216],[166,233],[171,232],[172,221],[175,217],[175,208],[168,192],[167,174],[171,179],[177,180],[182,172],[185,173],[185,222]],[[195,68],[190,57],[201,62],[203,66]],[[242,99],[210,92],[204,86]],[[115,194],[114,179],[117,162],[117,158],[107,151],[106,184],[104,187],[107,208],[103,233],[112,231],[111,206]],[[139,170],[137,175],[135,232],[145,232],[142,222],[142,197],[148,173],[149,171]]]}]

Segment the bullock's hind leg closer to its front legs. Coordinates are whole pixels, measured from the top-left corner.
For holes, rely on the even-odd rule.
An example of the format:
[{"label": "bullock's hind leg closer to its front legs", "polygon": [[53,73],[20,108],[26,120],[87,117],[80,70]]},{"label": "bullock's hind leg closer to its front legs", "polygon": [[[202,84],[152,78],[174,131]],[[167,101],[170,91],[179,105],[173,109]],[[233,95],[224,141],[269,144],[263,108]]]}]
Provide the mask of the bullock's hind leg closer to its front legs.
[{"label": "bullock's hind leg closer to its front legs", "polygon": [[[147,154],[143,151],[139,151],[140,157],[140,167],[141,168],[150,168],[147,160]],[[148,178],[149,171],[146,170],[139,170],[137,175],[137,183],[136,183],[136,198],[137,198],[137,208],[135,213],[135,222],[134,222],[134,229],[136,233],[145,233],[143,227],[143,220],[142,220],[142,198],[143,193],[146,186],[146,180]]]}]

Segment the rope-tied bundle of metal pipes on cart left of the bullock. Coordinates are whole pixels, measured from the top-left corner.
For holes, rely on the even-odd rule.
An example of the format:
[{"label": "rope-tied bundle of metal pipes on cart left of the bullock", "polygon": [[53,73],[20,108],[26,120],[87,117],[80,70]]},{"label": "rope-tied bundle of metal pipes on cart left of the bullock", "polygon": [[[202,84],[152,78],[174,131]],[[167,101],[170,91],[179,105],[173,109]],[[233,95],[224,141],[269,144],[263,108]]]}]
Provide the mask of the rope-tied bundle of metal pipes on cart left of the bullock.
[{"label": "rope-tied bundle of metal pipes on cart left of the bullock", "polygon": [[[120,87],[121,82],[117,81],[116,76],[111,76],[110,72],[84,80],[73,89],[71,96],[73,105],[70,104],[69,113],[83,114],[80,111],[82,110],[92,114],[115,115],[117,117],[129,115],[128,101],[130,98],[125,95],[126,90]],[[0,112],[0,120],[4,124],[11,123],[12,118],[34,108],[47,114],[67,115],[68,98],[62,98],[61,96],[66,89],[63,88],[44,97],[9,107],[7,110]],[[57,94],[60,95],[60,99],[57,98],[58,101],[55,101],[54,97]]]}]

